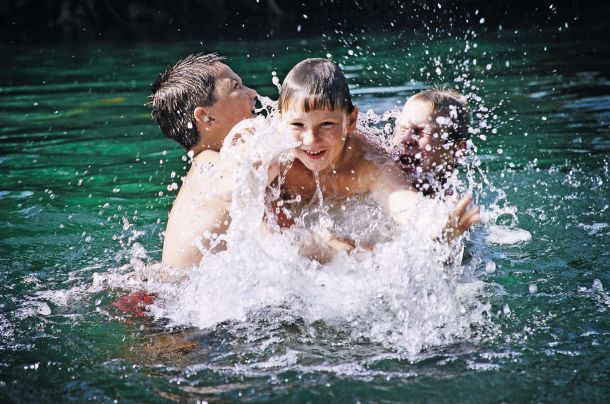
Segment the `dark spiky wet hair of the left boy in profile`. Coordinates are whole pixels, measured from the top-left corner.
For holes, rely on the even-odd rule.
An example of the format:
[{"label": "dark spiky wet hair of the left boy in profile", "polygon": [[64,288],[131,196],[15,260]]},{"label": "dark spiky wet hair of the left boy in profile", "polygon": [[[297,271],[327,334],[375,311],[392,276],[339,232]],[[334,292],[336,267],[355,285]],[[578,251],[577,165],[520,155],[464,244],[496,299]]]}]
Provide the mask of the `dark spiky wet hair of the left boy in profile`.
[{"label": "dark spiky wet hair of the left boy in profile", "polygon": [[161,73],[152,86],[149,106],[163,134],[186,150],[199,142],[193,113],[216,102],[214,88],[223,58],[215,53],[194,54]]}]

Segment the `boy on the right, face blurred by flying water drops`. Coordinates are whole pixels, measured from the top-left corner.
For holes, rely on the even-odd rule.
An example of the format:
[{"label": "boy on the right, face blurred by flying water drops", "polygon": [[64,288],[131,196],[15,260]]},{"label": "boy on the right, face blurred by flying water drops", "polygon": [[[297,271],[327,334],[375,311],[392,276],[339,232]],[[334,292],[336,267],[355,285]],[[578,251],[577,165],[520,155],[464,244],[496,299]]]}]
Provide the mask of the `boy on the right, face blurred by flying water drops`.
[{"label": "boy on the right, face blurred by flying water drops", "polygon": [[392,155],[424,195],[452,193],[460,158],[467,151],[470,110],[453,90],[425,90],[407,100],[397,122]]}]

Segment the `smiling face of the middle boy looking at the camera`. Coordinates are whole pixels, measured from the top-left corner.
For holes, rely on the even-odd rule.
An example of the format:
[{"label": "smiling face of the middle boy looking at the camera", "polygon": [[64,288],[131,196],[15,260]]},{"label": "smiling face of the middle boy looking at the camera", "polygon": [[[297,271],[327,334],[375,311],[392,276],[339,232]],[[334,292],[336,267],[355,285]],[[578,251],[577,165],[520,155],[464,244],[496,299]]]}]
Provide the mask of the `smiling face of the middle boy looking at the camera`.
[{"label": "smiling face of the middle boy looking at the camera", "polygon": [[336,165],[342,155],[347,134],[356,127],[358,110],[347,115],[340,110],[289,108],[282,113],[282,122],[300,142],[295,157],[307,169],[320,172]]}]

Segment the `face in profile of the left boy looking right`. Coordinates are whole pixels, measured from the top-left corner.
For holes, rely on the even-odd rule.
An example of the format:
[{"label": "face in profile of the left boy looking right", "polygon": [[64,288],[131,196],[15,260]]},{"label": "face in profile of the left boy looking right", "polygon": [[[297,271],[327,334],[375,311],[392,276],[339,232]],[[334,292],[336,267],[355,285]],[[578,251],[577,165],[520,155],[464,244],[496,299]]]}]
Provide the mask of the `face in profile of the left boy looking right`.
[{"label": "face in profile of the left boy looking right", "polygon": [[221,64],[214,88],[216,102],[205,109],[226,136],[238,122],[253,116],[256,95],[229,66]]}]

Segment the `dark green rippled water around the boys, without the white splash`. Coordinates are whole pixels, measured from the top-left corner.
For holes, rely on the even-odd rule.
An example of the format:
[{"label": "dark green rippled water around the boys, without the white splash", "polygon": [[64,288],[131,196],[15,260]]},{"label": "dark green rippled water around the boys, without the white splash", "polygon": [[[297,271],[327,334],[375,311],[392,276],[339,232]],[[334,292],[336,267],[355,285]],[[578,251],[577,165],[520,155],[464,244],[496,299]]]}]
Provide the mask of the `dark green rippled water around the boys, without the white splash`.
[{"label": "dark green rippled water around the boys, without the white splash", "polygon": [[[250,3],[246,10],[258,10]],[[130,20],[115,29],[110,17],[92,20],[81,35],[74,17],[49,25],[56,14],[43,10],[60,3],[33,15],[33,2],[3,3],[12,14],[2,18],[12,15],[17,25],[3,24],[0,46],[2,401],[607,401],[607,7],[440,3],[451,12],[424,7],[428,14],[417,15],[429,20],[409,25],[418,20],[409,14],[414,8],[393,3],[362,6],[359,14],[332,3],[323,16],[316,4],[303,12],[278,2],[289,16],[273,35],[266,37],[270,25],[262,17],[248,17],[260,22],[255,39],[235,25],[238,15],[226,17],[230,29],[219,32],[226,39],[210,35],[215,28],[169,34],[173,28],[155,32],[161,23],[146,30]],[[176,13],[180,27],[200,21],[201,4],[184,4],[188,13],[148,7]],[[346,8],[356,13],[345,18],[350,26],[331,26]],[[404,19],[386,20],[391,13]],[[307,20],[297,21],[302,14]],[[315,19],[325,21],[323,29]],[[46,25],[34,24],[41,21]],[[376,29],[362,32],[354,21]],[[101,38],[90,36],[97,30]],[[475,144],[493,186],[483,185],[478,198],[490,205],[503,190],[499,203],[516,208],[518,226],[532,234],[527,242],[484,245],[477,277],[488,285],[481,299],[491,304],[496,330],[384,359],[386,348],[323,324],[263,321],[260,327],[282,341],[272,349],[307,352],[308,362],[257,369],[248,365],[274,352],[249,341],[251,330],[223,324],[169,331],[114,310],[110,302],[123,292],[98,283],[96,274],[129,267],[136,243],[146,250],[144,261],[160,258],[173,198],[166,187],[185,165],[149,118],[150,83],[178,58],[210,51],[274,98],[273,71],[283,77],[299,60],[326,54],[349,73],[361,110],[383,112],[431,85],[481,97],[478,121],[490,127],[487,140]],[[462,74],[470,87],[455,81]],[[481,105],[493,112],[485,117]],[[496,263],[494,273],[484,271],[487,260]],[[299,327],[315,329],[313,346]]]}]

